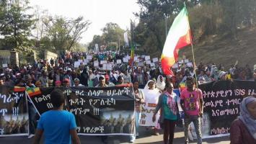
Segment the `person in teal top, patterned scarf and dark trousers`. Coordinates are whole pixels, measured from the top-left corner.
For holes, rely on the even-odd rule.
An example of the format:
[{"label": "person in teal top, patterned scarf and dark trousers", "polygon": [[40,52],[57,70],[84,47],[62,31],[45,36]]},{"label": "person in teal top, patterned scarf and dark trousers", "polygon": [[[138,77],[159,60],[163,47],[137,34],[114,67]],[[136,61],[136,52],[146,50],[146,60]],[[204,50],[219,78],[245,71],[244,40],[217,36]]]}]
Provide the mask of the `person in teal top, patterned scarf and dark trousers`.
[{"label": "person in teal top, patterned scarf and dark trousers", "polygon": [[162,109],[160,123],[164,128],[164,144],[172,144],[175,136],[175,124],[177,121],[177,95],[173,92],[172,83],[165,85],[166,91],[159,96],[158,104],[154,111],[152,121],[156,121],[156,113]]}]

